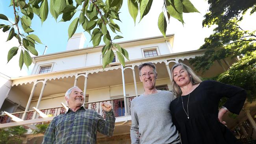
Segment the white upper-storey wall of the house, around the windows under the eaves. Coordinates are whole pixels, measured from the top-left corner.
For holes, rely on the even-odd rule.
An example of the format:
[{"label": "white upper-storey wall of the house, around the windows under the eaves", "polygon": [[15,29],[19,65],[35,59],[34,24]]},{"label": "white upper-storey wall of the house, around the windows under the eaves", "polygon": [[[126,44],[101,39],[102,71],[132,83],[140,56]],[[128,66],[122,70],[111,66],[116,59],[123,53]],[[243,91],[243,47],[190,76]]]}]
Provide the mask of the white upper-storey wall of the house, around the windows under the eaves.
[{"label": "white upper-storey wall of the house, around the windows under the eaves", "polygon": [[[124,47],[129,53],[129,59],[141,59],[143,58],[143,49],[144,48],[158,48],[158,55],[170,54],[170,50],[165,42],[155,43],[155,44],[143,44],[132,47]],[[38,74],[40,66],[48,65],[53,63],[52,72],[60,70],[68,70],[72,68],[81,68],[84,66],[94,66],[100,65],[100,55],[99,52],[92,52],[82,55],[63,57],[59,59],[51,59],[47,61],[40,61],[35,64],[32,74]],[[85,61],[86,59],[86,61]]]}]

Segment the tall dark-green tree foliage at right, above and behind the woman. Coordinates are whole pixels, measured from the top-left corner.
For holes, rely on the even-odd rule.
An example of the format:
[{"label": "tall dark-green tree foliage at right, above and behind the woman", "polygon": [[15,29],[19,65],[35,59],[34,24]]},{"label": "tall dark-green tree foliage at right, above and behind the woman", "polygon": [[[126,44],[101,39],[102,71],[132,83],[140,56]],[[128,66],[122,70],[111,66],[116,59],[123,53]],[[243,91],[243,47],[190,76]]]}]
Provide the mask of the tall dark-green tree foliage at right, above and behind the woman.
[{"label": "tall dark-green tree foliage at right, above and behind the woman", "polygon": [[208,3],[209,12],[204,16],[202,24],[208,27],[216,24],[217,27],[200,47],[206,49],[205,54],[189,62],[195,70],[206,72],[216,61],[227,57],[240,57],[237,63],[218,76],[217,81],[242,87],[247,90],[247,98],[252,102],[256,100],[256,30],[243,30],[239,22],[246,11],[255,12],[256,1],[247,0],[243,3],[233,0],[208,0]]}]

